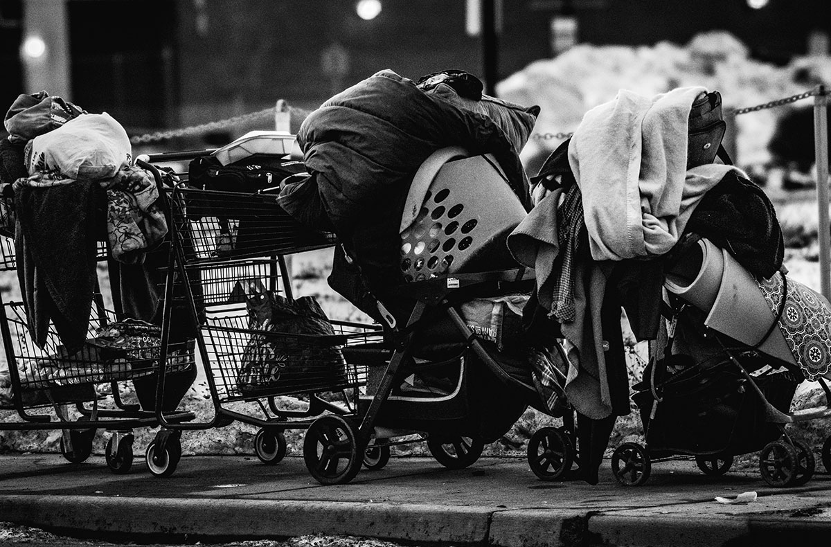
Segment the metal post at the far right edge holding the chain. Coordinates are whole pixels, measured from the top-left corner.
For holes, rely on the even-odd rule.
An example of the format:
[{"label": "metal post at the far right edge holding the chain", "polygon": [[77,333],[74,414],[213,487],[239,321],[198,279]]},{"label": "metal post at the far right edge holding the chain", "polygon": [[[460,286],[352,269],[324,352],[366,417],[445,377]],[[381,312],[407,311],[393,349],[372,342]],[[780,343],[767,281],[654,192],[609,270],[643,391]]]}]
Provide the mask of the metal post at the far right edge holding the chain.
[{"label": "metal post at the far right edge holding the chain", "polygon": [[831,232],[829,232],[829,126],[828,96],[825,86],[817,86],[814,96],[814,157],[817,169],[817,232],[819,234],[819,282],[825,298],[831,299]]}]

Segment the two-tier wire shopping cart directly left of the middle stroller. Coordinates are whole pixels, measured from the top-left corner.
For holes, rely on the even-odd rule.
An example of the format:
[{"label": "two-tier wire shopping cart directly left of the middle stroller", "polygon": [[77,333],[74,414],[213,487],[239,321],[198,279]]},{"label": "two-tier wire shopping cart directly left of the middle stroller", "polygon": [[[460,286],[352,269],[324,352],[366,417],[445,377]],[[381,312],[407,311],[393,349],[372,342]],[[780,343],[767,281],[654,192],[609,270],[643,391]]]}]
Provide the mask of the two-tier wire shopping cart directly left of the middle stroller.
[{"label": "two-tier wire shopping cart directly left of the middle stroller", "polygon": [[[332,234],[303,228],[278,205],[276,188],[254,193],[229,192],[189,186],[182,162],[211,150],[149,155],[137,165],[154,173],[165,188],[174,250],[168,264],[165,303],[184,302],[200,321],[199,347],[214,417],[209,421],[170,421],[159,411],[161,423],[174,430],[209,429],[239,421],[257,426],[254,450],[260,461],[275,464],[286,454],[284,431],[306,429],[324,413],[354,412],[356,390],[366,382],[365,367],[343,360],[341,349],[381,337],[376,325],[329,322],[328,333],[274,332],[251,322],[250,295],[258,287],[293,302],[287,256],[335,244]],[[185,165],[187,165],[185,163]],[[275,181],[275,183],[278,181]],[[174,293],[175,283],[188,288]],[[168,343],[170,305],[162,325],[161,372],[170,367]],[[262,326],[260,326],[262,327]],[[165,392],[160,374],[157,397]],[[288,408],[283,396],[301,400]],[[239,410],[243,404],[244,410]],[[233,407],[233,408],[232,408]],[[157,445],[150,456],[158,476],[178,456]],[[150,461],[150,460],[149,460]]]}]

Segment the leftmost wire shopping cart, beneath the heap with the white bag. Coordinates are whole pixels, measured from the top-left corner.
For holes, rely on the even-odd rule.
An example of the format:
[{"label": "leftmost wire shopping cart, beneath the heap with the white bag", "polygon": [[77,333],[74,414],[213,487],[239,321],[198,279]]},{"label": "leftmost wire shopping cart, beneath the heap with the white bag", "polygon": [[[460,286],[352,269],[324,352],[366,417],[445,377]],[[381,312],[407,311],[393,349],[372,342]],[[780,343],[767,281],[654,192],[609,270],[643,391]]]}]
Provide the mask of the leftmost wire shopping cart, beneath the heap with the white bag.
[{"label": "leftmost wire shopping cart, beneath the heap with the white bag", "polygon": [[[106,244],[97,247],[98,260],[107,257]],[[16,268],[14,242],[0,236],[0,269]],[[120,397],[120,382],[155,373],[160,353],[160,336],[145,337],[138,348],[117,347],[121,334],[144,325],[120,323],[116,314],[104,307],[98,283],[91,295],[93,313],[86,343],[77,352],[68,352],[57,330],[50,324],[42,347],[28,328],[26,306],[5,302],[0,295],[0,333],[8,378],[3,386],[0,409],[16,411],[17,419],[0,422],[0,430],[61,430],[61,454],[67,461],[85,461],[92,453],[98,429],[111,433],[106,445],[106,464],[114,473],[130,471],[133,463],[133,430],[159,425],[154,409],[142,409]],[[148,334],[148,333],[144,333]],[[154,333],[149,333],[150,335]],[[155,339],[155,342],[149,342]],[[192,344],[170,347],[171,369],[193,363]],[[194,416],[177,411],[170,421],[186,421]]]}]

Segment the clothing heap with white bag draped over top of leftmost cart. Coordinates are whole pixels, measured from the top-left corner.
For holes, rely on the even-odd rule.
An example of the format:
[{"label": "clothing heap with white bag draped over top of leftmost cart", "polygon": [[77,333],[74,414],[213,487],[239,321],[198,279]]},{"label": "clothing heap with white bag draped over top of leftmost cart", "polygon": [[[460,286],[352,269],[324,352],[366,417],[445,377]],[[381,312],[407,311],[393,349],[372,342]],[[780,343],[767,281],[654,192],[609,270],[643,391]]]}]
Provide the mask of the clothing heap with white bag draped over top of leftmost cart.
[{"label": "clothing heap with white bag draped over top of leftmost cart", "polygon": [[[81,348],[96,284],[96,242],[124,263],[167,234],[153,177],[131,166],[130,140],[106,113],[47,91],[17,97],[0,143],[0,178],[13,200],[18,280],[32,338],[52,321],[69,352]],[[9,230],[12,232],[12,230]]]}]

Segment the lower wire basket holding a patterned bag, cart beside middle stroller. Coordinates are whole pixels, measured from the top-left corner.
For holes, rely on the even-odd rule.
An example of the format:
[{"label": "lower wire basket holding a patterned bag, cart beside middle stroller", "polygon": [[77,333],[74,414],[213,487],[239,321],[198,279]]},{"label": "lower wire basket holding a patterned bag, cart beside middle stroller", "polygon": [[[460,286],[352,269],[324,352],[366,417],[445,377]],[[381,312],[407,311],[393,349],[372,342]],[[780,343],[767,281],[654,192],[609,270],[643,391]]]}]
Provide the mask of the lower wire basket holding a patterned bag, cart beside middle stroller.
[{"label": "lower wire basket holding a patterned bag, cart beside middle stroller", "polygon": [[332,322],[334,335],[248,328],[244,308],[208,313],[203,332],[220,402],[333,392],[366,383],[366,367],[344,360],[341,347],[380,339],[368,325]]}]

